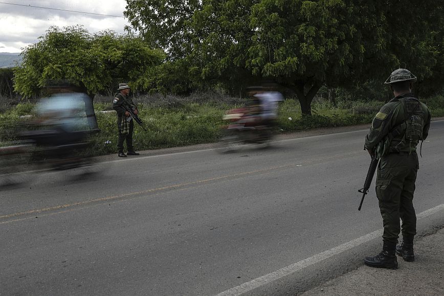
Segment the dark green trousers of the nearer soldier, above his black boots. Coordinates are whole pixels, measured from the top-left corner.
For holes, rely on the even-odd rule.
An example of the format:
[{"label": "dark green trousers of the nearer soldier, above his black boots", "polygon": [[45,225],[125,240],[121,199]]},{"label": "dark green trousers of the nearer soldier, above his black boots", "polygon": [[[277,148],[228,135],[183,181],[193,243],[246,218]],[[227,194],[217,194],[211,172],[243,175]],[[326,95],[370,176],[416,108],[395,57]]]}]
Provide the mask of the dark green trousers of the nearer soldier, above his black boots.
[{"label": "dark green trousers of the nearer soldier, above his black boots", "polygon": [[[416,213],[413,208],[418,155],[388,154],[381,158],[376,176],[376,196],[384,223],[383,239],[397,243],[403,236],[416,234]],[[399,226],[399,218],[402,227]]]}]

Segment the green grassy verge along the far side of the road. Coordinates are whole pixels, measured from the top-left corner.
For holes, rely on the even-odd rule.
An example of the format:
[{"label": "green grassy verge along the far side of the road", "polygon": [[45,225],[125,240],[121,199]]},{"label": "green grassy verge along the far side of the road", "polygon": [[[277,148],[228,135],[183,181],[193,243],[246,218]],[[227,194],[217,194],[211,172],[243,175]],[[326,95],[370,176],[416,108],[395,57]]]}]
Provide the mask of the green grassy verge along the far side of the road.
[{"label": "green grassy verge along the far side of the road", "polygon": [[[101,132],[94,136],[94,154],[116,153],[117,126],[115,112],[109,98],[95,102],[97,120]],[[174,99],[172,97],[141,97],[138,102],[140,117],[147,131],[135,124],[134,141],[137,150],[186,146],[217,141],[218,132],[225,111],[241,106],[240,99]],[[432,110],[432,116],[444,116],[444,97],[437,96],[424,100]],[[294,132],[319,127],[356,125],[371,122],[372,117],[383,102],[346,101],[336,107],[328,102],[315,101],[312,104],[312,117],[302,117],[299,102],[287,99],[279,105],[277,126],[280,132]],[[16,138],[13,129],[23,119],[20,116],[32,115],[32,103],[18,104],[0,112],[0,145],[13,143]],[[291,120],[289,119],[291,118]]]}]

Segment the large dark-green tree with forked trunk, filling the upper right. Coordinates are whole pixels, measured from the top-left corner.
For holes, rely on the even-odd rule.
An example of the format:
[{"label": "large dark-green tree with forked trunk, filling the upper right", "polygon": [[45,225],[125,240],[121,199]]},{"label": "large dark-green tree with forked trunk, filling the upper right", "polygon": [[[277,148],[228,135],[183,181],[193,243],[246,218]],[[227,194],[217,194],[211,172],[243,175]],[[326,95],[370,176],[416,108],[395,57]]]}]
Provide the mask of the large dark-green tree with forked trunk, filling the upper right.
[{"label": "large dark-green tree with forked trunk, filling the upper right", "polygon": [[383,81],[399,66],[424,79],[436,64],[427,46],[430,0],[420,8],[413,0],[127,3],[134,29],[152,44],[161,40],[172,59],[187,56],[203,79],[274,79],[294,90],[305,114],[323,84]]}]

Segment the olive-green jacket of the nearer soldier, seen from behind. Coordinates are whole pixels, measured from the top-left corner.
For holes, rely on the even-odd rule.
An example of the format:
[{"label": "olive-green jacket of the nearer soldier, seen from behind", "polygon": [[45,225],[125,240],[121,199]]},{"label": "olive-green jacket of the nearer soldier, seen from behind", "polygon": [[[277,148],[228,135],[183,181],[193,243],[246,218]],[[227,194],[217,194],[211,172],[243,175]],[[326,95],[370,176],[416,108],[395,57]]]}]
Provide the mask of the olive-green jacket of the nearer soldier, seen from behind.
[{"label": "olive-green jacket of the nearer soldier, seen from behind", "polygon": [[[422,113],[422,139],[429,134],[431,114],[424,103],[416,101],[412,94],[405,94],[393,98],[382,106],[381,110],[373,118],[370,131],[365,137],[364,149],[372,150],[376,156],[382,157],[391,152],[414,152],[418,140],[411,142],[405,140],[407,120],[411,113],[407,110],[410,102],[416,106],[416,113]],[[407,103],[406,103],[407,102]],[[420,108],[417,104],[419,102]],[[421,110],[422,109],[422,110]],[[418,111],[419,110],[419,111]],[[411,110],[410,110],[411,111]]]}]

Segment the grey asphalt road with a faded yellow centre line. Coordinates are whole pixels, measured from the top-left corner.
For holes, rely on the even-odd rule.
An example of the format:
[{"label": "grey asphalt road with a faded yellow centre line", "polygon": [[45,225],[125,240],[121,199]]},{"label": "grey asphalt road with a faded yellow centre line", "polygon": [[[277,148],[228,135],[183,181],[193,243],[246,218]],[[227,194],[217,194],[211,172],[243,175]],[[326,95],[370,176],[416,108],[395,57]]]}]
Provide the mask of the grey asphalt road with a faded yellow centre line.
[{"label": "grey asphalt road with a faded yellow centre line", "polygon": [[[444,223],[443,124],[432,123],[422,149],[415,206],[438,210],[425,212],[419,231]],[[230,154],[200,146],[113,155],[88,179],[39,173],[27,187],[0,191],[0,294],[313,287],[362,264],[381,243],[373,188],[357,211],[367,129],[286,136],[272,149]]]}]

